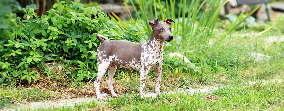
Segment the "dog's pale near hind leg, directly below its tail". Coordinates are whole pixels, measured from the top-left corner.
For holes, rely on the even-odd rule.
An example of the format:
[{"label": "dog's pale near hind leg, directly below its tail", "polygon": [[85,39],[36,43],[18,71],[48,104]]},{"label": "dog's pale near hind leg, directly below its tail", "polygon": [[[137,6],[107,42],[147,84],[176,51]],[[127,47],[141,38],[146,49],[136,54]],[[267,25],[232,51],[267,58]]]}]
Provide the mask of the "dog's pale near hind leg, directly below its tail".
[{"label": "dog's pale near hind leg, directly below its tail", "polygon": [[[99,58],[98,58],[99,59]],[[98,100],[106,100],[106,98],[104,98],[101,94],[100,94],[100,82],[103,78],[103,75],[106,73],[106,69],[109,66],[109,62],[103,62],[103,63],[99,63],[98,62],[98,73],[97,73],[97,79],[94,81],[94,87],[96,90],[96,94],[97,94],[97,99]]]}]

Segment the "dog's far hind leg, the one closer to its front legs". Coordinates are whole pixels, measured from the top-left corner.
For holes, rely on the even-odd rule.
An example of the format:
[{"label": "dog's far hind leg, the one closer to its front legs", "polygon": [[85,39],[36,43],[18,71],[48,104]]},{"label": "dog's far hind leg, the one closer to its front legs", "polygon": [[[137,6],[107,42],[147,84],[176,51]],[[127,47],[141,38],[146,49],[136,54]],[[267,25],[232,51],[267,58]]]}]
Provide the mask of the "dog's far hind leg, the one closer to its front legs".
[{"label": "dog's far hind leg, the one closer to its front legs", "polygon": [[116,68],[117,67],[113,63],[109,64],[109,67],[108,67],[109,75],[108,75],[108,78],[106,79],[106,83],[109,86],[109,90],[112,93],[112,96],[114,96],[114,97],[120,96],[119,94],[114,92],[113,86],[112,86],[113,76],[115,74]]}]

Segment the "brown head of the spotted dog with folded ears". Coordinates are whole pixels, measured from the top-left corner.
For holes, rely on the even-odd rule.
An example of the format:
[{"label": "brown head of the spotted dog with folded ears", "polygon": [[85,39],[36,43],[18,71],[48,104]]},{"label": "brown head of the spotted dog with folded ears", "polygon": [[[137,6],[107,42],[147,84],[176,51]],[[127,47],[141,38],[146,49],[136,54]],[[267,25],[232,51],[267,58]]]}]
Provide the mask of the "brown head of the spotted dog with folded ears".
[{"label": "brown head of the spotted dog with folded ears", "polygon": [[159,22],[158,19],[150,21],[149,25],[152,27],[152,36],[156,39],[172,41],[173,35],[171,33],[171,22],[175,23],[172,19],[166,19],[164,22]]}]

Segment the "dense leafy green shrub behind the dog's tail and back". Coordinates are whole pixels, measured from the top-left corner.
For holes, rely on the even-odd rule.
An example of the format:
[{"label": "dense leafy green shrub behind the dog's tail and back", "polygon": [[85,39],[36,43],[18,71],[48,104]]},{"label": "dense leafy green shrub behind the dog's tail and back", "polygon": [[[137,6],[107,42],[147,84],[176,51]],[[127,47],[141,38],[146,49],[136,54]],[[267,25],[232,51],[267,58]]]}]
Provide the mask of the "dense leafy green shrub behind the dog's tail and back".
[{"label": "dense leafy green shrub behind the dog's tail and back", "polygon": [[[0,83],[36,82],[39,75],[58,77],[58,73],[75,82],[91,80],[97,74],[95,34],[139,41],[135,36],[141,33],[120,29],[101,7],[84,8],[79,0],[57,2],[41,17],[34,12],[36,5],[22,8],[24,20],[6,14],[8,27],[0,28]],[[55,71],[46,65],[50,62],[66,70]],[[70,68],[74,65],[79,67]]]}]

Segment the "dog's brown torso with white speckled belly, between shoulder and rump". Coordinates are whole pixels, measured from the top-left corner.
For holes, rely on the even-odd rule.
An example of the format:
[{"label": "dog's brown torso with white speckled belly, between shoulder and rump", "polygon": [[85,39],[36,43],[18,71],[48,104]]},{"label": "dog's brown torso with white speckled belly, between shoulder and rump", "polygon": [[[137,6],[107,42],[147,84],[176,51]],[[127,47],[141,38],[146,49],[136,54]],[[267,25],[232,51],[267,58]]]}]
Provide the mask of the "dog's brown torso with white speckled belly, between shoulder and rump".
[{"label": "dog's brown torso with white speckled belly, between shoulder and rump", "polygon": [[126,40],[103,41],[97,49],[98,64],[108,61],[120,68],[141,69],[142,43]]}]

